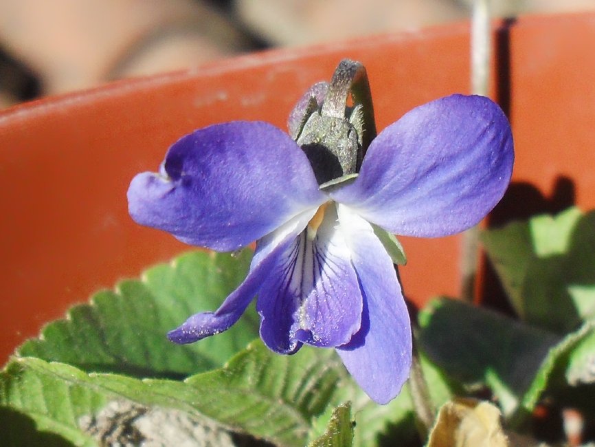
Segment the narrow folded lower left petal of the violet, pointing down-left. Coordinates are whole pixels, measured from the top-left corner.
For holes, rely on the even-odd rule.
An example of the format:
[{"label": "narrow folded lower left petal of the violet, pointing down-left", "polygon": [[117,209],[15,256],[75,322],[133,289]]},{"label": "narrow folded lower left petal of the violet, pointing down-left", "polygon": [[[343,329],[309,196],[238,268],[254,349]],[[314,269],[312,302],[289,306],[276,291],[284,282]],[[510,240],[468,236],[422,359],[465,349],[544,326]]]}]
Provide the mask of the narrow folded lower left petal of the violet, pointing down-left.
[{"label": "narrow folded lower left petal of the violet, pointing down-left", "polygon": [[183,325],[168,333],[176,343],[192,343],[202,338],[220,334],[232,327],[242,316],[252,298],[258,293],[265,278],[278,262],[279,257],[291,246],[316,210],[302,212],[278,230],[261,239],[250,264],[246,279],[232,294],[225,298],[216,312],[194,314]]}]

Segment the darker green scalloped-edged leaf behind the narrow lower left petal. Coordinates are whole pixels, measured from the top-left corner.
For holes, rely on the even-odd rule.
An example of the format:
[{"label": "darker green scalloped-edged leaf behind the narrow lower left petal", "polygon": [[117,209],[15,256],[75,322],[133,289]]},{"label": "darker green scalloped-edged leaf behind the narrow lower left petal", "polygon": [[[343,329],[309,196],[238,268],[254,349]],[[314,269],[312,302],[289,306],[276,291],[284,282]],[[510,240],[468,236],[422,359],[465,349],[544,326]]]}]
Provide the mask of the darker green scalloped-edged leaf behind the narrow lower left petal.
[{"label": "darker green scalloped-edged leaf behind the narrow lower left petal", "polygon": [[221,305],[244,279],[250,259],[250,250],[235,257],[192,252],[157,265],[142,281],[122,281],[115,291],[93,295],[89,305],[73,307],[18,354],[135,377],[183,378],[221,367],[258,337],[253,307],[229,331],[193,345],[175,345],[166,334],[190,315]]}]

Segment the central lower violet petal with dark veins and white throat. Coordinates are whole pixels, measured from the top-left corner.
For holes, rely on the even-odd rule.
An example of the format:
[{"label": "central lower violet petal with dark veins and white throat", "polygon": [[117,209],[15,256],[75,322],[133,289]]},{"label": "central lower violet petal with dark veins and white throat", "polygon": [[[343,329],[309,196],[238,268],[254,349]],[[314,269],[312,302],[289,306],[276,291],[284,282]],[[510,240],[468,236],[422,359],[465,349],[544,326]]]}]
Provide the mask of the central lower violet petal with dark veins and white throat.
[{"label": "central lower violet petal with dark veins and white throat", "polygon": [[337,226],[337,212],[330,205],[316,236],[308,227],[278,257],[262,285],[256,303],[262,316],[260,336],[273,351],[293,353],[302,343],[344,345],[359,330],[361,292]]}]

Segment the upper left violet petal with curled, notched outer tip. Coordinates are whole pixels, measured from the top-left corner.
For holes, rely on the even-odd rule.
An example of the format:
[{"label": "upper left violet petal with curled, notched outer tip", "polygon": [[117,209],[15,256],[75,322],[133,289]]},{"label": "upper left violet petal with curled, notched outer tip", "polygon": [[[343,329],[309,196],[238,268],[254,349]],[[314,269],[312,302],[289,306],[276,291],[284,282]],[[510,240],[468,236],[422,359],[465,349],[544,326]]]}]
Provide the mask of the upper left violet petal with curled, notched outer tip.
[{"label": "upper left violet petal with curled, notched outer tip", "polygon": [[306,155],[265,122],[205,127],[170,147],[161,173],[137,175],[128,209],[183,242],[231,251],[326,199]]}]

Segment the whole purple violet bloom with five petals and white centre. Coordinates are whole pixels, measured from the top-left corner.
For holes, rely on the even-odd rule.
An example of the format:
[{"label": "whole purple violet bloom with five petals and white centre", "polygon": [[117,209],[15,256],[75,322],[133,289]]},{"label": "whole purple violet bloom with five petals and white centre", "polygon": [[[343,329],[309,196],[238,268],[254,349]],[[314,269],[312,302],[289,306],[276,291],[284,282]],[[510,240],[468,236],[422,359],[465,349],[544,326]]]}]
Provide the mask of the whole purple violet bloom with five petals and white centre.
[{"label": "whole purple violet bloom with five petals and white centre", "polygon": [[409,111],[372,141],[357,178],[335,188],[319,188],[304,151],[271,124],[227,122],[182,137],[158,174],[133,179],[133,219],[216,251],[257,244],[243,283],[170,340],[223,332],[258,296],[270,349],[333,347],[373,400],[389,402],[409,375],[412,334],[379,235],[440,237],[475,225],[504,194],[513,158],[506,117],[480,96]]}]

